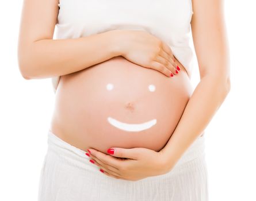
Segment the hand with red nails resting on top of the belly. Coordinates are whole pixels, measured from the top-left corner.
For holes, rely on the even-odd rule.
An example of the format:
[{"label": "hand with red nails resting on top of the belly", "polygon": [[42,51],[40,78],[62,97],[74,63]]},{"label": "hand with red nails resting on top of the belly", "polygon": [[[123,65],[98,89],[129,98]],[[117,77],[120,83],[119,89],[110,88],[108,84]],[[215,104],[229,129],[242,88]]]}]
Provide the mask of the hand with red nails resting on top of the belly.
[{"label": "hand with red nails resting on top of the belly", "polygon": [[[177,75],[179,67],[170,47],[158,37],[144,30],[114,30],[120,55],[125,59],[152,68],[170,77]],[[178,69],[177,69],[178,68]]]}]

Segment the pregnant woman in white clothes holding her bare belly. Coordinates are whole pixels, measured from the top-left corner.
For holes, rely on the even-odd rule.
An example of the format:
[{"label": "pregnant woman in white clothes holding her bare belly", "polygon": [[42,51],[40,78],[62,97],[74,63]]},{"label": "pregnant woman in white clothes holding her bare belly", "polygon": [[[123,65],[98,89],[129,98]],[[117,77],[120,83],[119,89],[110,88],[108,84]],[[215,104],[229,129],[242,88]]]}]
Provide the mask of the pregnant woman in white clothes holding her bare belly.
[{"label": "pregnant woman in white clothes holding her bare belly", "polygon": [[208,200],[204,130],[230,91],[223,2],[23,6],[21,74],[56,98],[39,201]]}]

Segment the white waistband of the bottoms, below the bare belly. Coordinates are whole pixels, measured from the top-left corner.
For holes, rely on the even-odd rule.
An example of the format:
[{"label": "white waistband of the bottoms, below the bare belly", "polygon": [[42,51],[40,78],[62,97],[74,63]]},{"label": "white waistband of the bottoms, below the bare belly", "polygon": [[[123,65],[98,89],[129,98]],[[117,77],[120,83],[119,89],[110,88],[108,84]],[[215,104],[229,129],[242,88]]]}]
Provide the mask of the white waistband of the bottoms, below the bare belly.
[{"label": "white waistband of the bottoms, below the bare belly", "polygon": [[[192,145],[185,151],[182,157],[175,164],[175,167],[182,165],[190,160],[196,159],[201,154],[204,154],[205,150],[205,135],[198,137]],[[74,167],[82,168],[85,170],[90,170],[98,173],[99,167],[97,165],[90,163],[90,157],[87,156],[85,151],[68,144],[66,141],[63,141],[57,137],[51,130],[48,131],[48,153],[47,154],[56,154],[58,158],[64,163],[68,163]]]}]

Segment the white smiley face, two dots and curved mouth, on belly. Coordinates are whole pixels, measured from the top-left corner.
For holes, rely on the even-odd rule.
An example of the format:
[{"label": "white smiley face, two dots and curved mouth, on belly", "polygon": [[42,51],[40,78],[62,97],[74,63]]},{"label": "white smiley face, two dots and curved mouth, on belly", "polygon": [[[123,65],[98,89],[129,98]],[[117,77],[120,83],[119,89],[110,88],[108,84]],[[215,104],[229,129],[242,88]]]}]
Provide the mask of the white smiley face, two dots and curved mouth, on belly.
[{"label": "white smiley face, two dots and curved mouth, on belly", "polygon": [[[108,83],[106,85],[106,89],[108,91],[113,90],[113,88],[114,88],[114,85],[112,83]],[[155,91],[155,85],[150,84],[148,86],[148,90],[150,92],[154,92]],[[152,119],[151,121],[147,121],[147,122],[144,122],[144,123],[124,123],[124,122],[120,122],[117,119],[114,119],[112,117],[108,117],[107,120],[110,123],[110,125],[112,125],[114,127],[117,127],[118,129],[125,130],[127,132],[139,132],[139,131],[142,131],[142,130],[149,129],[150,127],[152,127],[156,124],[156,119]]]}]

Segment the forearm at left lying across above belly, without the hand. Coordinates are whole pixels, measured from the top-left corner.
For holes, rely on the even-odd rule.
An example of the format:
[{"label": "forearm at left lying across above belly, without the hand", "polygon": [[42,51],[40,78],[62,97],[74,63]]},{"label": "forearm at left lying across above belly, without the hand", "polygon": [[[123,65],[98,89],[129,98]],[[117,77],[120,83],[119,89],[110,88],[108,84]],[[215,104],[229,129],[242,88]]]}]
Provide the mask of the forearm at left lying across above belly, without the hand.
[{"label": "forearm at left lying across above belly, without the hand", "polygon": [[113,32],[68,39],[44,39],[20,50],[19,65],[26,79],[51,78],[77,72],[119,56]]}]

